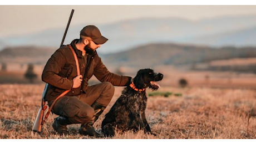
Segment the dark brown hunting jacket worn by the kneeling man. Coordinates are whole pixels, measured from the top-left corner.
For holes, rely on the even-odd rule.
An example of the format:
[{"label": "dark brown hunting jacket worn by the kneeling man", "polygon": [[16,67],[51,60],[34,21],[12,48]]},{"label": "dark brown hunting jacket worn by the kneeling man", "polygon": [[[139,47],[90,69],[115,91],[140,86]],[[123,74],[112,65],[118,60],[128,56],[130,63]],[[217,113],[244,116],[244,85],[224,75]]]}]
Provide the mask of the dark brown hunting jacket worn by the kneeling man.
[{"label": "dark brown hunting jacket worn by the kneeling man", "polygon": [[[82,55],[81,50],[76,48],[75,39],[71,42],[72,48],[75,50],[79,67],[80,74],[83,76],[86,69],[87,57]],[[126,86],[130,84],[130,76],[121,76],[114,73],[110,73],[106,66],[102,63],[100,56],[96,53],[93,56],[90,68],[88,68],[87,75],[83,78],[84,86],[81,88],[73,89],[72,79],[77,76],[76,61],[73,53],[68,45],[56,50],[51,58],[47,61],[45,68],[42,73],[42,81],[49,84],[49,88],[46,94],[46,100],[55,100],[65,90],[70,90],[66,95],[73,96],[79,95],[80,91],[86,92],[88,86],[88,80],[95,75],[101,82],[110,82],[114,86]]]}]

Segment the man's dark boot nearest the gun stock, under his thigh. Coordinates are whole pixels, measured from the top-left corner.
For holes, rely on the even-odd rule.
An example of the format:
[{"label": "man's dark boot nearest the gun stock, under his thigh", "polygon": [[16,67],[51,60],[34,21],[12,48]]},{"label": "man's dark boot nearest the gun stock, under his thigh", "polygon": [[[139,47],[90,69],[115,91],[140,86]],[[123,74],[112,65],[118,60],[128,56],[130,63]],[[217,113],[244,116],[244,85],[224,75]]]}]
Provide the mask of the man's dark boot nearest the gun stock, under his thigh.
[{"label": "man's dark boot nearest the gun stock, under his thigh", "polygon": [[52,127],[60,135],[67,134],[67,125],[70,125],[71,122],[65,116],[59,116],[54,119]]}]

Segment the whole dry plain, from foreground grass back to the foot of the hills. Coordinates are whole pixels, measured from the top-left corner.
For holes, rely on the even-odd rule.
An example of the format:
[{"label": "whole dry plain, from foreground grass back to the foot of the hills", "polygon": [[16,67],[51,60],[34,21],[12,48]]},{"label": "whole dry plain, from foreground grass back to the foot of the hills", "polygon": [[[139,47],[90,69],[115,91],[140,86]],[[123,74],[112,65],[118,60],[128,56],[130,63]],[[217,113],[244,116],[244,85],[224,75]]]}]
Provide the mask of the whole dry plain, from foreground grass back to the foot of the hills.
[{"label": "whole dry plain, from foreground grass back to the foot of the hills", "polygon": [[[9,65],[7,71],[0,71],[0,139],[95,138],[80,135],[78,124],[68,125],[69,135],[56,134],[52,128],[53,119],[57,117],[54,114],[48,117],[42,133],[33,132],[33,122],[40,109],[45,83],[41,81],[42,65],[35,65],[34,71],[38,75],[35,84],[29,84],[24,79],[26,69],[26,65],[22,68],[20,65]],[[114,68],[109,69],[115,71]],[[164,79],[159,83],[162,87],[154,95],[151,90],[147,90],[153,96],[148,97],[146,119],[156,136],[145,135],[143,131],[117,131],[116,136],[105,138],[256,138],[255,74],[183,71],[172,66],[157,66],[153,69],[164,74]],[[129,69],[125,71],[129,72]],[[135,71],[130,69],[130,73],[125,75],[134,76]],[[186,88],[179,87],[181,78],[188,81]],[[95,77],[91,80],[97,82]],[[101,127],[104,115],[114,105],[122,89],[115,88],[112,101],[95,122],[97,129]],[[168,95],[162,96],[165,92]]]}]

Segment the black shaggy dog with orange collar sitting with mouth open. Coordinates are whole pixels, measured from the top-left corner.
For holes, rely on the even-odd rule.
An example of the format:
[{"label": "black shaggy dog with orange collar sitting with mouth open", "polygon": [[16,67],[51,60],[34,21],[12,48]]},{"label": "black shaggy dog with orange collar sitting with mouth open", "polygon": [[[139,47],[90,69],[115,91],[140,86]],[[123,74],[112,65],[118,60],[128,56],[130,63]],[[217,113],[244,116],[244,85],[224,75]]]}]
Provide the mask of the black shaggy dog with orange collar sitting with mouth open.
[{"label": "black shaggy dog with orange collar sitting with mouth open", "polygon": [[160,85],[155,81],[163,79],[163,74],[154,73],[152,69],[141,69],[117,99],[110,111],[102,121],[101,129],[106,136],[114,136],[115,128],[126,130],[144,130],[151,133],[150,126],[145,117],[146,88],[157,90]]}]

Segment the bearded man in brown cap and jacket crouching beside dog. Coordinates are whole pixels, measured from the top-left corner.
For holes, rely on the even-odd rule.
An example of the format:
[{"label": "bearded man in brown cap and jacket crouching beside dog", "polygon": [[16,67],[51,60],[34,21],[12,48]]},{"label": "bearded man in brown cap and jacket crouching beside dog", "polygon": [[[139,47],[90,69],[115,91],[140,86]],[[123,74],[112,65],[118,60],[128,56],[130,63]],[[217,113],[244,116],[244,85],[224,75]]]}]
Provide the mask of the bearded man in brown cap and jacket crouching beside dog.
[{"label": "bearded man in brown cap and jacket crouching beside dog", "polygon": [[[63,45],[47,61],[42,80],[50,85],[46,94],[48,105],[51,106],[63,91],[70,90],[56,101],[52,109],[53,113],[59,115],[52,124],[58,133],[67,133],[67,125],[81,124],[80,134],[103,136],[92,125],[111,101],[114,86],[126,86],[131,81],[130,76],[110,73],[96,53],[96,49],[107,40],[95,25],[87,25],[81,30],[80,39]],[[70,46],[77,55],[81,75],[77,75]],[[102,83],[88,86],[92,75]]]}]

